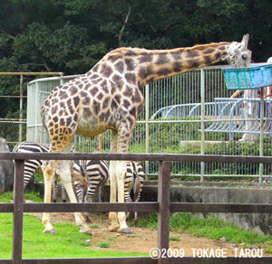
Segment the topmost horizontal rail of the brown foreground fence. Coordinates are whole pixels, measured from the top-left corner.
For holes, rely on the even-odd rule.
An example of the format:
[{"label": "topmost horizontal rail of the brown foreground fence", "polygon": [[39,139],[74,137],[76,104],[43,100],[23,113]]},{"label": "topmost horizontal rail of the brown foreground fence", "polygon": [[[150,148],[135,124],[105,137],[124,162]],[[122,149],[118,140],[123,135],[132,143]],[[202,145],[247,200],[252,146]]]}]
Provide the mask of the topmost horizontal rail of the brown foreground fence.
[{"label": "topmost horizontal rail of the brown foreground fence", "polygon": [[11,153],[1,152],[0,159],[11,160],[135,160],[135,161],[182,161],[219,163],[272,164],[272,156],[219,156],[195,154],[108,154],[108,153]]}]

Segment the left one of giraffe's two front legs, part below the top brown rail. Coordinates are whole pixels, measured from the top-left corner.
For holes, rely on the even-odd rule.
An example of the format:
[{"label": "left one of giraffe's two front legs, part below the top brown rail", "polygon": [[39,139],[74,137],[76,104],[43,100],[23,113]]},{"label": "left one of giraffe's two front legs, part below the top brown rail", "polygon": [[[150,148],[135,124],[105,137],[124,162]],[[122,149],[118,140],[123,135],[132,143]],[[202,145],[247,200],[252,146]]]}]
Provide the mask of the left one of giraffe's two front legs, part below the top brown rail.
[{"label": "left one of giraffe's two front legs, part below the top brown rail", "polygon": [[[116,203],[116,161],[111,160],[110,162],[110,181],[111,181],[111,197],[110,202]],[[109,227],[109,231],[117,231],[119,229],[119,223],[117,221],[116,212],[109,213],[109,219],[111,221],[111,226]]]}]

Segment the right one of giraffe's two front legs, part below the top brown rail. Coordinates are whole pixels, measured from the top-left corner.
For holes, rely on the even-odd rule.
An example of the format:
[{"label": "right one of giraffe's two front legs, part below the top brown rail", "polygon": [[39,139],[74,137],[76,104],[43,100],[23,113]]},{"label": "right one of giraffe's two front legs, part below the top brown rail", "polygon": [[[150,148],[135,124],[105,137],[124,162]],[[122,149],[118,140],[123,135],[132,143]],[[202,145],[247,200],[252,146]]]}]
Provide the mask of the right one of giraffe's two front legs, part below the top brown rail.
[{"label": "right one of giraffe's two front legs, part below the top brown rail", "polygon": [[[118,203],[124,203],[124,176],[126,174],[126,163],[125,161],[119,161],[116,165],[117,173],[117,185],[118,185]],[[121,233],[132,233],[126,223],[126,213],[118,212],[118,221],[120,224],[119,232]]]}]

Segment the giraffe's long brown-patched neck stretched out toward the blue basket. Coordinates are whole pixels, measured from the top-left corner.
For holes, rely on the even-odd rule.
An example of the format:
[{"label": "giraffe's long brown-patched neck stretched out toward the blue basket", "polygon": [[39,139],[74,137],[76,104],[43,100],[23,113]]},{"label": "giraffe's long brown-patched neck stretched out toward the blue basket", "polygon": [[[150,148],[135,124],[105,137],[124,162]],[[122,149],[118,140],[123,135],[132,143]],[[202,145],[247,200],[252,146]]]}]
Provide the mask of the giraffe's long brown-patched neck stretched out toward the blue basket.
[{"label": "giraffe's long brown-patched neck stretched out toward the blue basket", "polygon": [[139,84],[142,87],[153,80],[224,61],[229,44],[219,42],[166,51],[142,50],[137,56]]}]

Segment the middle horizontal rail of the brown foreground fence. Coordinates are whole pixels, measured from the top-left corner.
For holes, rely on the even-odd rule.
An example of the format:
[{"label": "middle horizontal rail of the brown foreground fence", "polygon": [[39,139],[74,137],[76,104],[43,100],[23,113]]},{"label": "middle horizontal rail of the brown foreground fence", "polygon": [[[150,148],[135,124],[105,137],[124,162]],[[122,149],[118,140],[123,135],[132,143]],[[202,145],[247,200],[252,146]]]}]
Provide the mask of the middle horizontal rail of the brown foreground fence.
[{"label": "middle horizontal rail of the brown foreground fence", "polygon": [[[24,203],[24,212],[158,212],[159,203]],[[14,212],[13,203],[0,203],[0,212]],[[170,203],[170,212],[272,213],[262,203]]]}]

